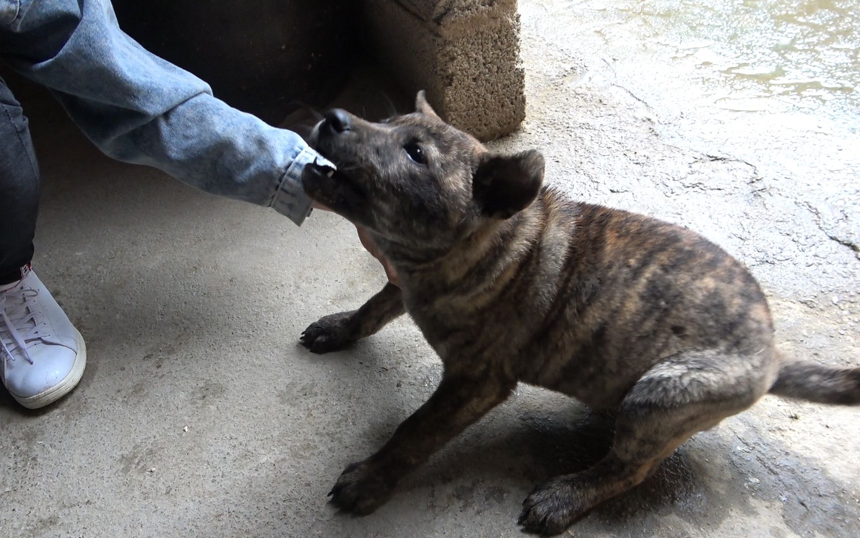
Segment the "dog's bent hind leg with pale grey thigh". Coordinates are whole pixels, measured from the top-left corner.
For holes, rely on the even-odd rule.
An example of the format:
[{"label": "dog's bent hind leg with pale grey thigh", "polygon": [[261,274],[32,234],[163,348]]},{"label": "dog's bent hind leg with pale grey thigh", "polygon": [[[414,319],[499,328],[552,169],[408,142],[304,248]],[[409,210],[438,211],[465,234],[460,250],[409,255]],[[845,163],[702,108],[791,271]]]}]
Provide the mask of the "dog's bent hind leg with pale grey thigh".
[{"label": "dog's bent hind leg with pale grey thigh", "polygon": [[[757,355],[765,353],[770,350]],[[776,368],[769,357],[686,352],[658,363],[619,406],[609,454],[581,473],[538,485],[519,523],[532,532],[560,533],[595,505],[639,485],[691,435],[766,393]]]}]

